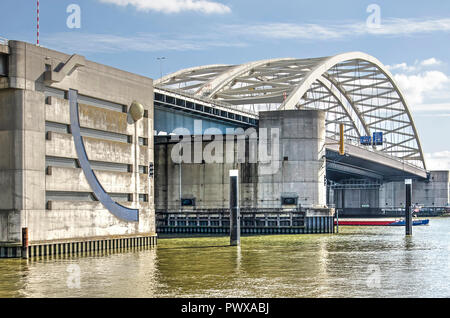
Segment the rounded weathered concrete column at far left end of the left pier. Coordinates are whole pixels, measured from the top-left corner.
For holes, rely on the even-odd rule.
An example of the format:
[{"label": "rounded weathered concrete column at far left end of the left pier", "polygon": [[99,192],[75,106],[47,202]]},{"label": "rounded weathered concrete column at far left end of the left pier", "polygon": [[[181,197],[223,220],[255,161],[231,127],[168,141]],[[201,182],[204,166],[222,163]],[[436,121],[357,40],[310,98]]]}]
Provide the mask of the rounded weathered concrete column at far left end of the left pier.
[{"label": "rounded weathered concrete column at far left end of the left pier", "polygon": [[42,94],[0,90],[0,148],[5,150],[0,156],[0,213],[6,220],[0,231],[6,241],[21,239],[20,211],[45,207],[43,112]]}]

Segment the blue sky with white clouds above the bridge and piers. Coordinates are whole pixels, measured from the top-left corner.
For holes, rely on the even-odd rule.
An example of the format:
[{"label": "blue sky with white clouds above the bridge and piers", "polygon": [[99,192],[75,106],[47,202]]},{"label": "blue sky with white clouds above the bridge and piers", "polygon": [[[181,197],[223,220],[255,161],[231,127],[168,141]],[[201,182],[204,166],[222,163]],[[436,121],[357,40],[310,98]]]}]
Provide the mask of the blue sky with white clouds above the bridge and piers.
[{"label": "blue sky with white clouds above the bridge and piers", "polygon": [[[2,0],[0,14],[0,37],[36,42],[36,0]],[[151,78],[206,64],[373,55],[404,92],[434,170],[450,169],[449,39],[442,0],[40,0],[41,45]]]}]

